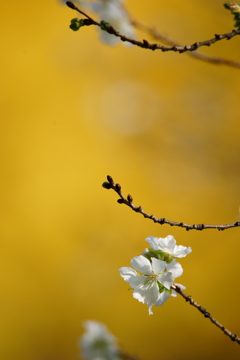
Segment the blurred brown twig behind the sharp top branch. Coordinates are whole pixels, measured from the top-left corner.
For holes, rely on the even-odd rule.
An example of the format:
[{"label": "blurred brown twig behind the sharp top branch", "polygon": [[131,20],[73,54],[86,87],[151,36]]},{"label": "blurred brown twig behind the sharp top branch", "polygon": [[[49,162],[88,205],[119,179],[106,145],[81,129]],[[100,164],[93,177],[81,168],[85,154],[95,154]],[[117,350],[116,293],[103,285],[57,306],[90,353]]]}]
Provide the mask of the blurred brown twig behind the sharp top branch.
[{"label": "blurred brown twig behind the sharp top branch", "polygon": [[[130,15],[129,15],[129,17],[131,19]],[[163,43],[165,43],[167,45],[180,46],[180,44],[178,44],[175,40],[173,40],[172,38],[170,38],[167,35],[162,34],[159,30],[157,30],[154,27],[148,26],[148,25],[144,24],[143,22],[136,20],[136,19],[132,19],[131,23],[137,29],[149,33],[156,40],[162,41]],[[194,51],[194,52],[187,51],[186,54],[191,57],[194,57],[196,59],[210,62],[212,64],[227,65],[227,66],[232,66],[235,68],[240,68],[240,62],[237,62],[234,60],[229,60],[229,59],[225,59],[225,58],[221,58],[221,57],[213,57],[213,56],[202,54],[198,51]]]}]

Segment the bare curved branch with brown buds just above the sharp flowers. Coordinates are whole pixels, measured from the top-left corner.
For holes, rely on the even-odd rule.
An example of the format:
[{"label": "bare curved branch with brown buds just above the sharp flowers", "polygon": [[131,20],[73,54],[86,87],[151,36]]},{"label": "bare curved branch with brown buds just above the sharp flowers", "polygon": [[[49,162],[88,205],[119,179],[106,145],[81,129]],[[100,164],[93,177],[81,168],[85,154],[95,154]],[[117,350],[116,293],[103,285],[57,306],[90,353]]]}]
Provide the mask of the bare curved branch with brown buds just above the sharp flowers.
[{"label": "bare curved branch with brown buds just above the sharp flowers", "polygon": [[120,197],[120,199],[117,200],[117,202],[119,204],[125,204],[128,207],[130,207],[133,211],[140,213],[143,215],[143,217],[153,220],[155,223],[158,223],[160,225],[163,224],[168,224],[170,226],[179,226],[182,228],[185,228],[187,231],[188,230],[205,230],[205,229],[217,229],[219,231],[221,230],[227,230],[230,228],[234,228],[234,227],[240,227],[240,221],[236,221],[235,223],[232,224],[226,224],[226,225],[208,225],[208,224],[194,224],[194,225],[189,225],[186,224],[184,222],[176,222],[176,221],[171,221],[168,220],[166,218],[157,218],[155,215],[149,215],[148,213],[146,213],[141,206],[135,206],[133,204],[133,198],[131,195],[128,195],[127,198],[124,197],[124,195],[122,194],[121,191],[121,185],[120,184],[114,184],[113,178],[108,175],[107,176],[107,180],[106,182],[104,182],[102,184],[102,186],[105,189],[113,189],[118,196]]}]

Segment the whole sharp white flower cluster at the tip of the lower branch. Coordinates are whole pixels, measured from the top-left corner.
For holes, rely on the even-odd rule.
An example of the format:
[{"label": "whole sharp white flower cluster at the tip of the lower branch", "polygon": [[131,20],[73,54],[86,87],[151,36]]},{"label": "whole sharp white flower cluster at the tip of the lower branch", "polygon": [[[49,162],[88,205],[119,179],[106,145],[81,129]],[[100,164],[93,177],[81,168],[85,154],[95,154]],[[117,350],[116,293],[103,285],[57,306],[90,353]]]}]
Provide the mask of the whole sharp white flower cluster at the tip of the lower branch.
[{"label": "whole sharp white flower cluster at the tip of the lower branch", "polygon": [[[185,257],[192,249],[177,246],[171,235],[166,238],[148,236],[146,241],[151,247],[131,260],[135,270],[131,267],[122,267],[119,271],[133,289],[134,299],[147,304],[151,315],[153,305],[163,305],[169,296],[177,296],[171,286],[175,278],[182,275],[183,268],[174,259]],[[183,285],[175,285],[185,289]]]}]

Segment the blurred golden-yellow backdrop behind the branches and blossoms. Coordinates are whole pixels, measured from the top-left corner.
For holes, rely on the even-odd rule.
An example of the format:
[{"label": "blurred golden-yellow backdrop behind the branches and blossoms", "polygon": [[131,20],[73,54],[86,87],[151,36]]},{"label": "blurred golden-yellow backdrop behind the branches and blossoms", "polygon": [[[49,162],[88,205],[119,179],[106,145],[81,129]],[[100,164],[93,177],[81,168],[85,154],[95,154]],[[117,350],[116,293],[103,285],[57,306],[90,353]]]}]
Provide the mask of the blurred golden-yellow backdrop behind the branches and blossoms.
[{"label": "blurred golden-yellow backdrop behind the branches and blossoms", "polygon": [[[127,5],[183,44],[233,27],[220,0]],[[72,32],[77,14],[60,1],[1,11],[1,360],[76,360],[86,319],[142,360],[239,359],[180,297],[149,316],[118,273],[148,235],[174,235],[193,249],[181,261],[186,292],[240,335],[239,229],[160,227],[101,184],[112,175],[158,217],[237,221],[240,70],[108,47],[93,27]],[[240,61],[239,44],[201,51]]]}]

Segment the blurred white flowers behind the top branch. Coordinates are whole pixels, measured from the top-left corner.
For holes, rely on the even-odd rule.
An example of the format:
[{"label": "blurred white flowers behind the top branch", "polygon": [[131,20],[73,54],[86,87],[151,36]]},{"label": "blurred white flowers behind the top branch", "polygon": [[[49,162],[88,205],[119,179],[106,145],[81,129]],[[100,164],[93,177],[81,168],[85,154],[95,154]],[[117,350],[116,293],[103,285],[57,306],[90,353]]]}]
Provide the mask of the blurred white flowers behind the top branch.
[{"label": "blurred white flowers behind the top branch", "polygon": [[[104,20],[122,35],[134,38],[133,26],[129,20],[123,2],[123,0],[77,0],[75,1],[75,4],[79,5],[82,9],[97,14],[99,22]],[[102,30],[100,30],[100,37],[101,40],[108,45],[115,45],[120,41],[116,36],[110,35]]]}]

